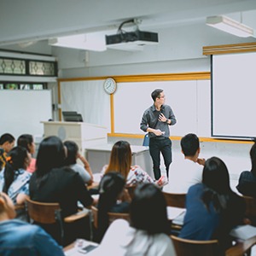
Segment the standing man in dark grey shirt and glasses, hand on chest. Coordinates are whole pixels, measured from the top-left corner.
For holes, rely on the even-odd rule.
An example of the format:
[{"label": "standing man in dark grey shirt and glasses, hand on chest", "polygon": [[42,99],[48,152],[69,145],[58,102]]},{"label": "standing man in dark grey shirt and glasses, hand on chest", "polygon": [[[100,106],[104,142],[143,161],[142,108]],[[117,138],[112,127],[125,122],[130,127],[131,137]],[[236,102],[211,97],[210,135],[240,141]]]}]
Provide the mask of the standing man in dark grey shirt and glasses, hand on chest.
[{"label": "standing man in dark grey shirt and glasses, hand on chest", "polygon": [[166,176],[169,175],[169,166],[172,163],[172,141],[169,138],[169,125],[175,125],[176,118],[172,108],[164,105],[166,96],[163,90],[154,90],[151,97],[154,104],[143,113],[141,129],[148,132],[149,153],[153,160],[154,178],[158,180],[161,176],[160,153],[164,157]]}]

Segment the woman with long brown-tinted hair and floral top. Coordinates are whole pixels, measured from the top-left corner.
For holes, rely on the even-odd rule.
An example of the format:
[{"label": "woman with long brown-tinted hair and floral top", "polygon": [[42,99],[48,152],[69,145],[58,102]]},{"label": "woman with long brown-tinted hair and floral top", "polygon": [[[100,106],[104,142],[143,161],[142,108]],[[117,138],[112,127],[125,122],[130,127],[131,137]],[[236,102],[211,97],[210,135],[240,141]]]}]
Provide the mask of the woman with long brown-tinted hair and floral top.
[{"label": "woman with long brown-tinted hair and floral top", "polygon": [[[154,183],[152,177],[150,177],[147,172],[143,171],[140,166],[131,166],[131,156],[129,143],[125,141],[114,143],[109,164],[103,166],[102,172],[120,172],[125,177],[127,186],[137,183]],[[156,183],[161,187],[165,185],[167,181],[163,177],[160,177]]]}]

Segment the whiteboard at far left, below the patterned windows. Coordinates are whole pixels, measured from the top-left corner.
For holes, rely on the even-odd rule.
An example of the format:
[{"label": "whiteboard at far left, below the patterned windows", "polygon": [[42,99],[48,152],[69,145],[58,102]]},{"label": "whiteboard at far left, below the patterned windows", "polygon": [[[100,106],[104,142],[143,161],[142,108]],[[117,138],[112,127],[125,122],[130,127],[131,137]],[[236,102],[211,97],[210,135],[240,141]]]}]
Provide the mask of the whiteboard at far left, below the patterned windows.
[{"label": "whiteboard at far left, below the patterned windows", "polygon": [[43,137],[41,121],[52,119],[50,90],[0,90],[0,134],[9,132],[16,139],[24,133]]}]

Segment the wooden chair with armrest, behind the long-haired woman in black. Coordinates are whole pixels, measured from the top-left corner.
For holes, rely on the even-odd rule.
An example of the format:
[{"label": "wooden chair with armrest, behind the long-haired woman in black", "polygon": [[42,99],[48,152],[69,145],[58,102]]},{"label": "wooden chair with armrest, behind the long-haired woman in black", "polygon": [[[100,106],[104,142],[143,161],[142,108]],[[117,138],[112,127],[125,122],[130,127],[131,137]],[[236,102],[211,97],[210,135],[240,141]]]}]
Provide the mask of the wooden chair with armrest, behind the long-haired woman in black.
[{"label": "wooden chair with armrest, behind the long-haired woman in black", "polygon": [[55,224],[60,234],[58,240],[61,245],[64,244],[64,223],[73,223],[81,218],[89,216],[89,210],[84,209],[83,211],[77,212],[66,218],[61,217],[61,207],[59,203],[44,203],[38,201],[32,201],[31,199],[26,200],[26,212],[28,219],[37,224],[50,225]]}]

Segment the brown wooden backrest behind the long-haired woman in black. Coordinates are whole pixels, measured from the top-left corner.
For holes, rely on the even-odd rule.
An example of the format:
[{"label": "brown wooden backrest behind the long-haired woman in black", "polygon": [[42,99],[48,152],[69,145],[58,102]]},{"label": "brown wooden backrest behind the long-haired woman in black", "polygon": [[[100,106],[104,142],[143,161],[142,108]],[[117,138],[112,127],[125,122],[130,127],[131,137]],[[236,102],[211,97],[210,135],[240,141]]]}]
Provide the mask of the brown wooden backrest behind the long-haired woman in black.
[{"label": "brown wooden backrest behind the long-haired woman in black", "polygon": [[26,200],[26,211],[28,217],[40,224],[55,224],[56,211],[61,211],[59,203],[43,203],[38,201]]}]

